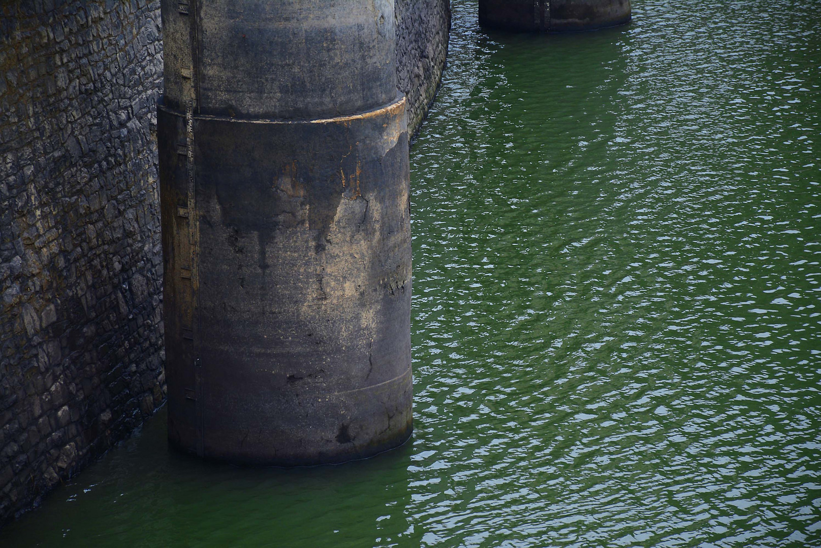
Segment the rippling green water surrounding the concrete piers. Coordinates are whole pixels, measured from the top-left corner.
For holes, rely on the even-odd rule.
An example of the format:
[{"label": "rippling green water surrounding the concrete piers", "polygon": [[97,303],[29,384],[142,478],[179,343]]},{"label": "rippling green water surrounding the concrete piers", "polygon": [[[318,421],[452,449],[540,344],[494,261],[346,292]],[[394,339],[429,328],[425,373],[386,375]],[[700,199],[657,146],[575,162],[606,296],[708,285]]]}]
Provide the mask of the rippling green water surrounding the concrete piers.
[{"label": "rippling green water surrounding the concrete piers", "polygon": [[412,441],[231,468],[160,413],[0,546],[821,546],[821,2],[550,37],[452,3]]}]

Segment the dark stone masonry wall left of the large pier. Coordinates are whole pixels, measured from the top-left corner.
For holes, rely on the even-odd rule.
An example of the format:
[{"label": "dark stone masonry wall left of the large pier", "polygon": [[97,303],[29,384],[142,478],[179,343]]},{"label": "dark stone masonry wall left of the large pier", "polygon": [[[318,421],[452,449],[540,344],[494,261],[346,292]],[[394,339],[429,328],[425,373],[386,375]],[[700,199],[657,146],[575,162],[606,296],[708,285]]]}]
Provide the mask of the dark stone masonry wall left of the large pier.
[{"label": "dark stone masonry wall left of the large pier", "polygon": [[0,2],[0,523],[162,404],[158,0]]}]

